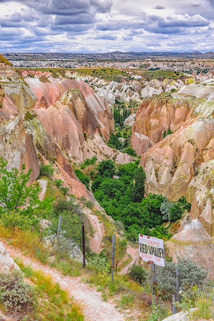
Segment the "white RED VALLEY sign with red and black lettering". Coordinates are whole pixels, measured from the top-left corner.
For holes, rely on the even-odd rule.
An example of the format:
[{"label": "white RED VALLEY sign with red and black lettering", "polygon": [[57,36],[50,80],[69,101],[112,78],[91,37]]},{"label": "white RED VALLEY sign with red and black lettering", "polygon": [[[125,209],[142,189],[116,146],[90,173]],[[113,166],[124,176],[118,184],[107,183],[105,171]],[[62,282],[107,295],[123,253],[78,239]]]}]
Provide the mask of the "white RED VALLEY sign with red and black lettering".
[{"label": "white RED VALLEY sign with red and black lettering", "polygon": [[139,234],[139,252],[143,261],[164,266],[163,239]]}]

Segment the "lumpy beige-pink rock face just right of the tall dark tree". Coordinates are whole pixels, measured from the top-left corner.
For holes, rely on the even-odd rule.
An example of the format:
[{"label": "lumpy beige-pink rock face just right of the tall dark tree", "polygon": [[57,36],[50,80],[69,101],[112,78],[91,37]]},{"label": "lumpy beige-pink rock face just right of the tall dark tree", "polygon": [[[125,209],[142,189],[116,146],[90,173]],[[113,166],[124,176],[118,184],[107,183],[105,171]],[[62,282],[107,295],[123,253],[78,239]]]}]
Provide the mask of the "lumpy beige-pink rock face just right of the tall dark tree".
[{"label": "lumpy beige-pink rock face just right of the tall dark tree", "polygon": [[172,200],[185,196],[207,151],[212,153],[213,119],[195,118],[187,123],[189,126],[184,123],[142,155],[140,164],[146,173],[147,192],[161,193]]}]

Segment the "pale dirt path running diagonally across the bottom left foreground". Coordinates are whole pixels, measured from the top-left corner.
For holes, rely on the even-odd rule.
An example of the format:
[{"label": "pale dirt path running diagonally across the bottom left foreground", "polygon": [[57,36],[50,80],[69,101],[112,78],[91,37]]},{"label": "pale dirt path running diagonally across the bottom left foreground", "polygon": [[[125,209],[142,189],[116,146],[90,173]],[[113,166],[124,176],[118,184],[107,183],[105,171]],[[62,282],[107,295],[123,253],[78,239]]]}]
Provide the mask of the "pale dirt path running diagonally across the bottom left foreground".
[{"label": "pale dirt path running diagonally across the bottom left foreground", "polygon": [[59,286],[66,290],[70,296],[73,296],[74,299],[81,300],[85,321],[125,320],[124,316],[120,314],[112,304],[102,300],[100,292],[97,292],[94,286],[91,287],[88,284],[82,283],[81,276],[64,276],[56,269],[42,265],[36,260],[24,255],[21,251],[15,249],[11,245],[4,242],[3,244],[11,257],[19,257],[23,260],[25,265],[30,265],[35,270],[40,270],[46,275],[51,275],[53,282],[58,283]]}]

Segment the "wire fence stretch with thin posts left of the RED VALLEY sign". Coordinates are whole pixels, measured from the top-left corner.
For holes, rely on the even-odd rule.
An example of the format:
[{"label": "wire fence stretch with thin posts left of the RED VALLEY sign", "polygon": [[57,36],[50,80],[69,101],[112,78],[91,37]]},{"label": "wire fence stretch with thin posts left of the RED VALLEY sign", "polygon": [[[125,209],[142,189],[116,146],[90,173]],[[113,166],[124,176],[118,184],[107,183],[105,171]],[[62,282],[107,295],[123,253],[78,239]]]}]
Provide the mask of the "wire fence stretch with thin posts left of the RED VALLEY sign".
[{"label": "wire fence stretch with thin posts left of the RED VALLEY sign", "polygon": [[87,266],[88,259],[96,257],[102,261],[105,256],[113,273],[121,274],[128,274],[134,264],[140,264],[138,242],[135,240],[127,246],[126,240],[115,234],[103,236],[103,231],[95,231],[93,235],[89,226],[85,227],[77,220],[71,222],[70,231],[66,219],[59,216],[55,241],[59,254],[67,249],[72,258],[82,262],[83,267]]}]

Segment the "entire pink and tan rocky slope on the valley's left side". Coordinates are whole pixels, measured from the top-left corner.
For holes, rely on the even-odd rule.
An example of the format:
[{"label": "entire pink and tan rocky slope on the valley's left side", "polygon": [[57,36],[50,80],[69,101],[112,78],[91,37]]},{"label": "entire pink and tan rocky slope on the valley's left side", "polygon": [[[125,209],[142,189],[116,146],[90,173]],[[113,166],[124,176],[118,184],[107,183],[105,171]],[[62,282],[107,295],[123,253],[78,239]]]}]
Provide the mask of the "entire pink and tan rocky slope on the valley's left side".
[{"label": "entire pink and tan rocky slope on the valley's left side", "polygon": [[[39,163],[54,162],[55,176],[72,194],[84,195],[100,208],[94,196],[77,179],[72,162],[81,163],[97,155],[99,160],[114,157],[127,163],[131,157],[105,144],[114,130],[112,112],[102,98],[84,82],[53,79],[48,73],[34,72],[20,78],[14,68],[0,65],[0,155],[8,167],[33,169]],[[32,76],[32,75],[31,75]]]}]

